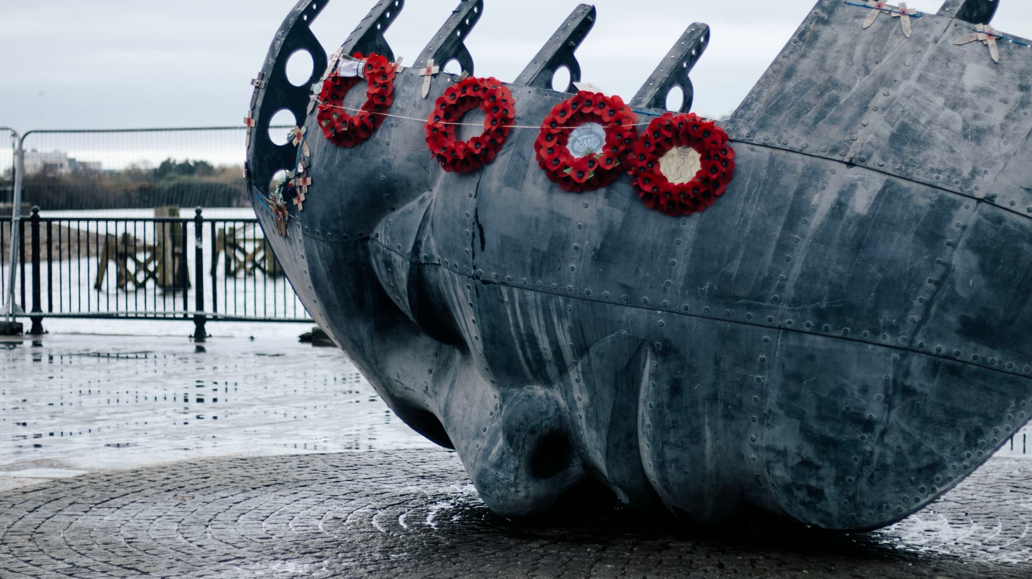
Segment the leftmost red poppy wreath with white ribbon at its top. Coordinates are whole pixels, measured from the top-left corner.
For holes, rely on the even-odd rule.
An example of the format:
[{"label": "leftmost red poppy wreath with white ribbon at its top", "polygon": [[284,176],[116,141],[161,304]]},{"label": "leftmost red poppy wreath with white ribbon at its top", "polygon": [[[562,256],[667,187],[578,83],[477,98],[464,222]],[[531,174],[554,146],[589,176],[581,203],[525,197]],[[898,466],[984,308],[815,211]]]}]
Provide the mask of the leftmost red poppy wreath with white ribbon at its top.
[{"label": "leftmost red poppy wreath with white ribbon at its top", "polygon": [[[359,61],[360,53],[355,54]],[[316,120],[323,135],[337,146],[353,147],[361,144],[384,123],[384,114],[394,102],[394,65],[385,57],[370,54],[364,59],[362,76],[341,76],[330,74],[323,81],[319,93],[319,113]],[[349,114],[344,108],[344,97],[362,77],[368,88],[365,90],[365,104]]]}]

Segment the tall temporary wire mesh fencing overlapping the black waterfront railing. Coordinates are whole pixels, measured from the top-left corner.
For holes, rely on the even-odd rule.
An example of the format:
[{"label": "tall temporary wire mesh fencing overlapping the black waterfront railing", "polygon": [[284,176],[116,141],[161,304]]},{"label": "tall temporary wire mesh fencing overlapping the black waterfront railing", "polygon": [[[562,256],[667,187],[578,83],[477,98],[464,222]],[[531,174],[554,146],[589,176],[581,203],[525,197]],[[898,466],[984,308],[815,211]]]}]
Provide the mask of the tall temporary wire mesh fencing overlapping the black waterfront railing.
[{"label": "tall temporary wire mesh fencing overlapping the black waterfront railing", "polygon": [[0,315],[311,322],[257,219],[179,214],[248,206],[245,127],[3,131]]}]

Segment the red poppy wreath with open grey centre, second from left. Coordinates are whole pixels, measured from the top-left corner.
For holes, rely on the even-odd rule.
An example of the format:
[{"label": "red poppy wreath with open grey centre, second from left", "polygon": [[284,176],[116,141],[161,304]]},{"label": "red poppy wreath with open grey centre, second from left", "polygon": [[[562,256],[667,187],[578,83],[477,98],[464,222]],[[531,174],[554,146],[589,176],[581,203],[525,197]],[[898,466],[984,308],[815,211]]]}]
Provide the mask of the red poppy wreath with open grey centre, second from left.
[{"label": "red poppy wreath with open grey centre, second from left", "polygon": [[[484,111],[484,132],[456,142],[456,124],[478,106]],[[445,171],[476,171],[494,161],[515,118],[513,95],[498,79],[464,78],[449,87],[434,103],[426,118],[426,145]]]}]

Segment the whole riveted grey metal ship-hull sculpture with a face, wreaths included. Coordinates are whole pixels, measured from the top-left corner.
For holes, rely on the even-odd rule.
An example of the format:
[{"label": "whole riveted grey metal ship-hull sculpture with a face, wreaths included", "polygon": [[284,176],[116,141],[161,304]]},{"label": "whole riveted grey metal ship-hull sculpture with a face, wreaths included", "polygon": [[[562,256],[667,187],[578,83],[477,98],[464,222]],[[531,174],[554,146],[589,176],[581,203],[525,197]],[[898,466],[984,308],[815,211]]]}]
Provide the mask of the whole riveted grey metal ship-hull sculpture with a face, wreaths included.
[{"label": "whole riveted grey metal ship-hull sculpture with a face, wreaths included", "polygon": [[382,36],[400,0],[333,57],[302,1],[255,81],[250,191],[318,323],[497,513],[595,485],[879,527],[1032,416],[1032,50],[996,4],[820,0],[717,126],[683,114],[705,25],[624,103],[551,90],[591,6],[503,83],[462,42],[482,0],[413,68]]}]

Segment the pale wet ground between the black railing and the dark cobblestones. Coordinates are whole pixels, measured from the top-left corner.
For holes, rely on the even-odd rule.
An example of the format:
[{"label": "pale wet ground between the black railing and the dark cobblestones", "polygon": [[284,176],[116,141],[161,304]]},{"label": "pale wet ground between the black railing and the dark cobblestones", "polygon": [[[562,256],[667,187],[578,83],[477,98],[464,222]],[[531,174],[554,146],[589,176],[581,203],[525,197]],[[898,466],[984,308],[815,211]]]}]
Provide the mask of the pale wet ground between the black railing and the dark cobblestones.
[{"label": "pale wet ground between the black railing and the dark cobblestones", "polygon": [[0,349],[0,488],[199,456],[429,447],[336,348],[46,336]]}]

